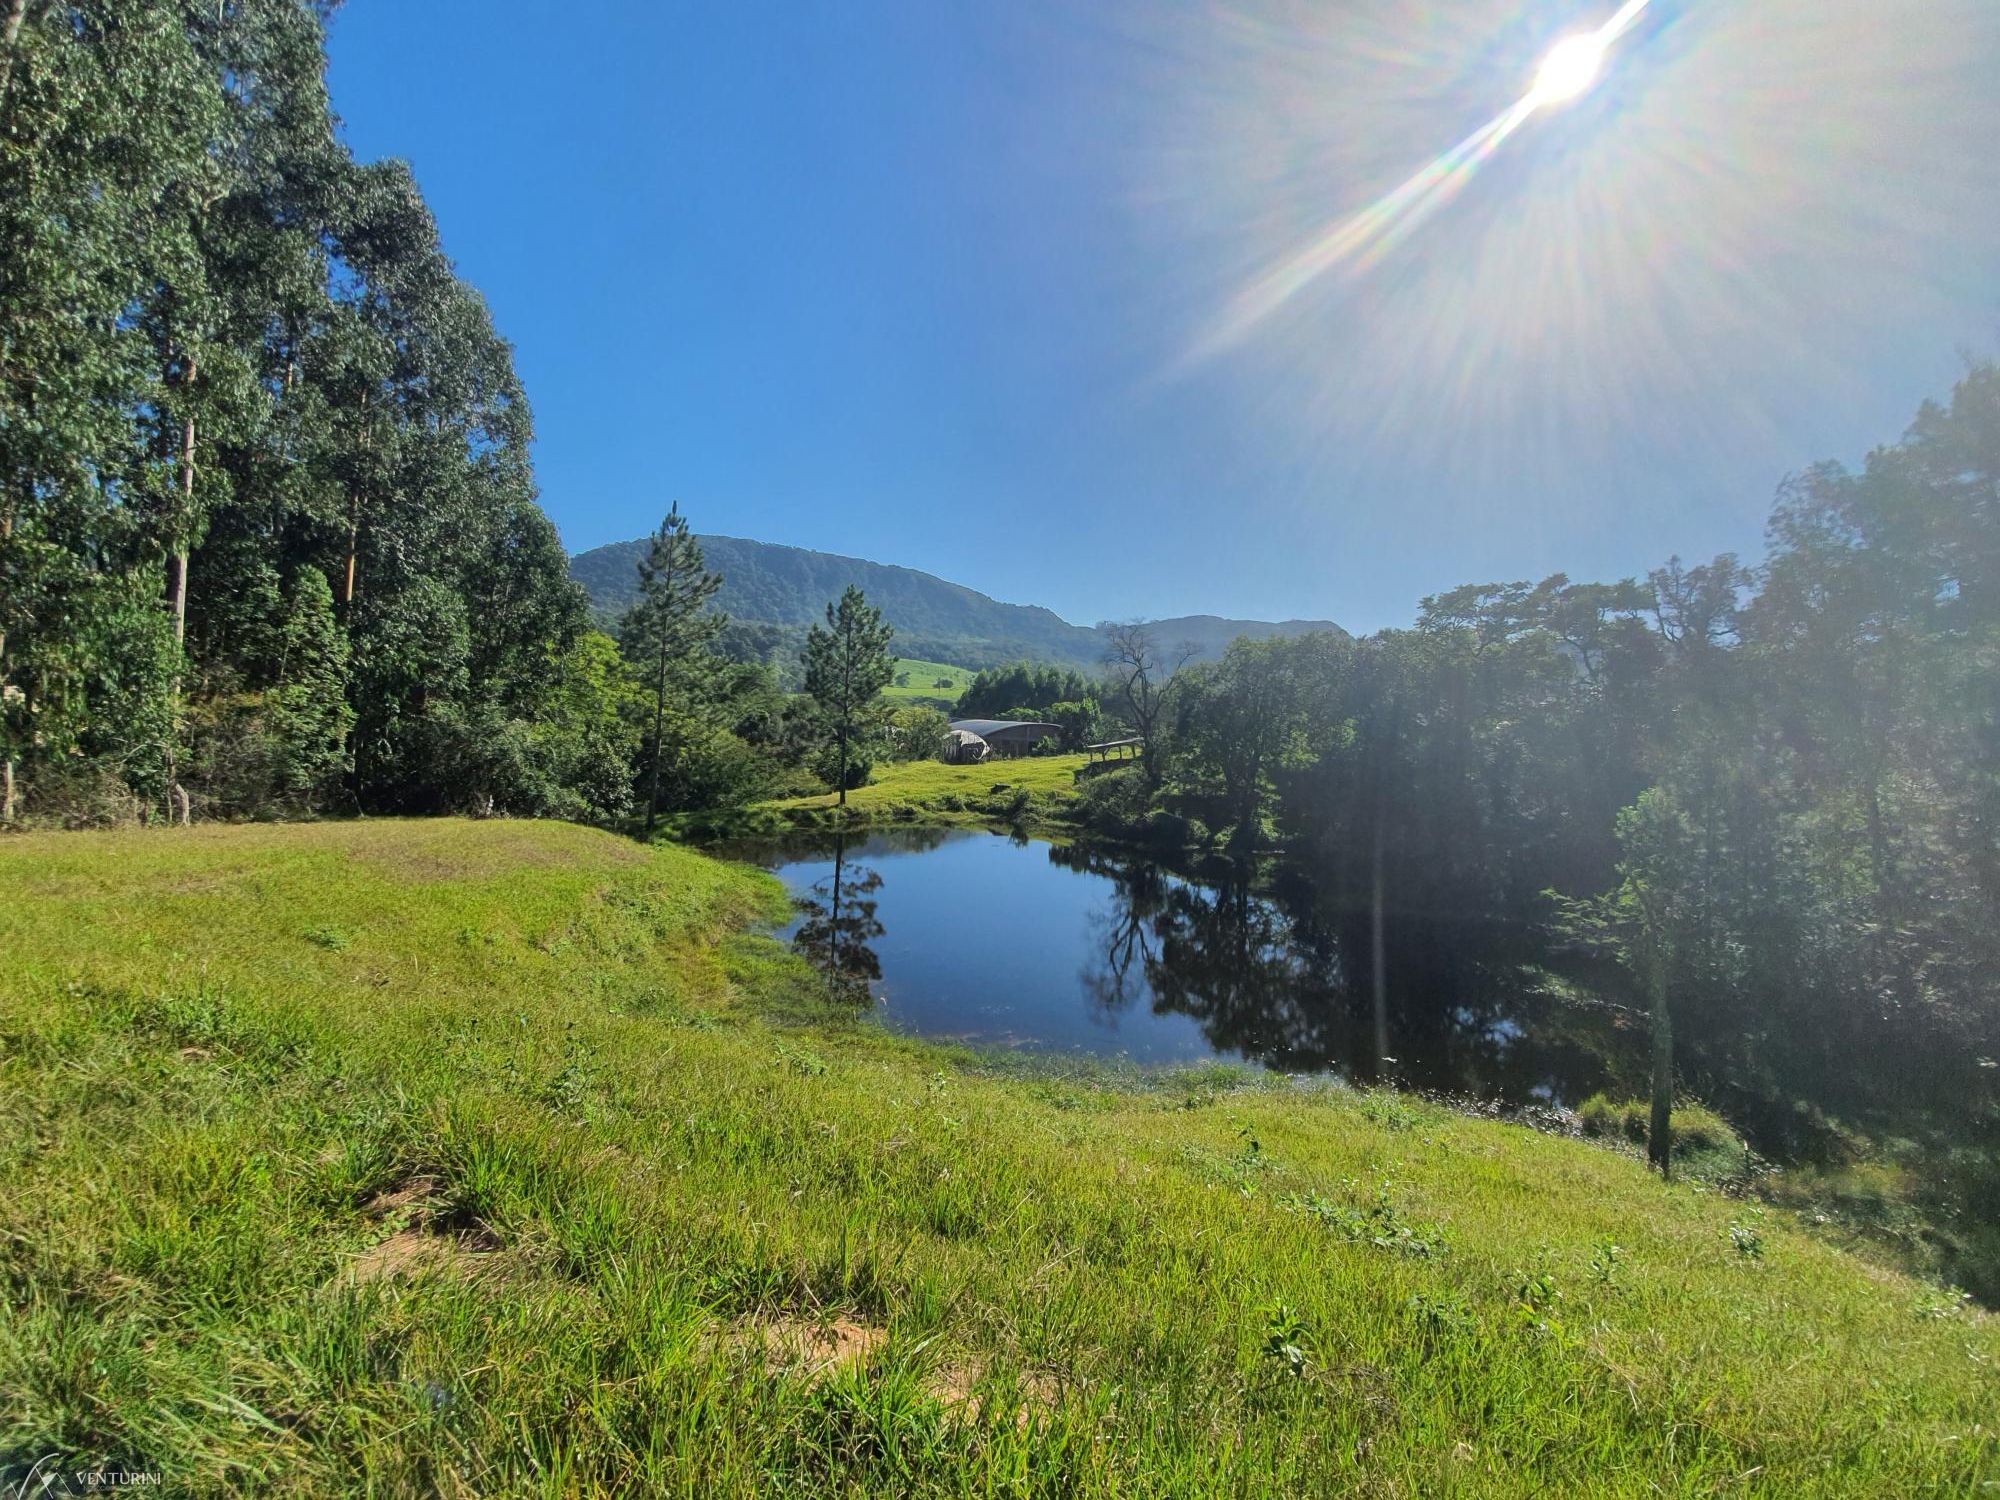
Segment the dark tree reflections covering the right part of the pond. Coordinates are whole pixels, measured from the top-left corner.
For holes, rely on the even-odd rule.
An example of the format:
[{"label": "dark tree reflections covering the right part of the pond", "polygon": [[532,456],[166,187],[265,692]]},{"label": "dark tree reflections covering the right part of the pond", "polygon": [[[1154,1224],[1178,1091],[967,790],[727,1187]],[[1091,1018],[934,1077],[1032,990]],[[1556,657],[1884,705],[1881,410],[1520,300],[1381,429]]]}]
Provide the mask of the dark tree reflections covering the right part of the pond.
[{"label": "dark tree reflections covering the right part of the pond", "polygon": [[1272,1068],[1518,1102],[1574,1102],[1634,1066],[1620,1018],[1558,1002],[1558,960],[1518,926],[1390,912],[1378,986],[1370,912],[1326,910],[1300,872],[1192,876],[1084,848],[1050,860],[1110,882],[1082,972],[1106,1018],[1144,1000]]}]

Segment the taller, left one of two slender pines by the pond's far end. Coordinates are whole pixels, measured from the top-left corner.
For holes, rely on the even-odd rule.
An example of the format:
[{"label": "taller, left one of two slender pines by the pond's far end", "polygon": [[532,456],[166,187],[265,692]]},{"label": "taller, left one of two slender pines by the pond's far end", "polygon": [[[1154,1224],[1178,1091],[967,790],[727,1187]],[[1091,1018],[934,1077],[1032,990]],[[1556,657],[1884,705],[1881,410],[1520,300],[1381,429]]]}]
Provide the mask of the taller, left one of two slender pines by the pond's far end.
[{"label": "taller, left one of two slender pines by the pond's far end", "polygon": [[710,650],[726,616],[708,608],[722,588],[722,574],[708,572],[702,544],[688,530],[676,504],[652,534],[638,564],[638,604],[626,610],[618,640],[626,660],[646,672],[652,698],[652,736],[646,742],[646,832],[660,816],[660,772],[670,758],[668,732],[676,732],[674,758],[686,748],[692,720],[712,696],[720,660]]}]

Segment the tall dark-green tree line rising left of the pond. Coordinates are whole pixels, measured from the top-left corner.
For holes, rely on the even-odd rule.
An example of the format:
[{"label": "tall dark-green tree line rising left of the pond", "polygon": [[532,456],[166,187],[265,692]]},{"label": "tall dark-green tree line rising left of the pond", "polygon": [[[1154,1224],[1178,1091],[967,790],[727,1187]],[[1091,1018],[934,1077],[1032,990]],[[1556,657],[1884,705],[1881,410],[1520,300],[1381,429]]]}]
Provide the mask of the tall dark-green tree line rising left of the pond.
[{"label": "tall dark-green tree line rising left of the pond", "polygon": [[4,16],[0,822],[652,822],[826,744],[852,784],[860,710],[714,652],[678,512],[592,628],[508,344],[410,170],[336,136],[330,10]]}]

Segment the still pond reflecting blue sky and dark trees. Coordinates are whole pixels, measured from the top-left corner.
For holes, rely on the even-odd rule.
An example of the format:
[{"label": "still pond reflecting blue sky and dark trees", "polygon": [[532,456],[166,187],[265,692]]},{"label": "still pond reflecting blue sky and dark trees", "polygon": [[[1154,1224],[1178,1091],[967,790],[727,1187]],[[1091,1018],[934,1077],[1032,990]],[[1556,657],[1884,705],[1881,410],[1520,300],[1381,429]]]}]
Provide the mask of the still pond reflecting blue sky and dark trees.
[{"label": "still pond reflecting blue sky and dark trees", "polygon": [[896,828],[718,850],[774,870],[784,936],[892,1028],[978,1046],[1232,1058],[1284,1072],[1574,1104],[1636,1082],[1632,1018],[1570,994],[1532,934],[1316,910],[1252,886],[986,830]]}]

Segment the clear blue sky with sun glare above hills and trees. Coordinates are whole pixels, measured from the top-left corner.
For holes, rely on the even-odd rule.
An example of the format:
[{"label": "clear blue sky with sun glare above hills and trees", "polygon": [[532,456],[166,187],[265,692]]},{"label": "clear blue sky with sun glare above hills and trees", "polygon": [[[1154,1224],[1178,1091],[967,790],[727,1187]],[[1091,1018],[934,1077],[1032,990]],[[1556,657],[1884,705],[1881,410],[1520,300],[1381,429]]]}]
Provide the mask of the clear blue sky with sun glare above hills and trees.
[{"label": "clear blue sky with sun glare above hills and trees", "polygon": [[1370,268],[1232,298],[1604,4],[348,0],[332,92],[514,342],[582,550],[698,530],[1090,622],[1408,622],[1756,554],[2000,342],[2000,6],[1654,0]]}]

